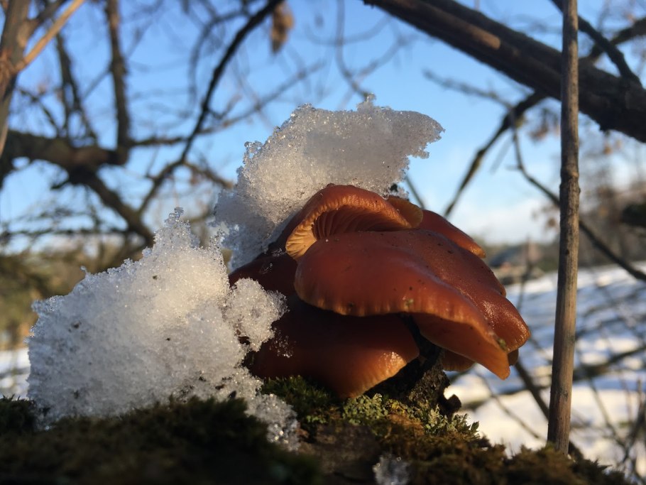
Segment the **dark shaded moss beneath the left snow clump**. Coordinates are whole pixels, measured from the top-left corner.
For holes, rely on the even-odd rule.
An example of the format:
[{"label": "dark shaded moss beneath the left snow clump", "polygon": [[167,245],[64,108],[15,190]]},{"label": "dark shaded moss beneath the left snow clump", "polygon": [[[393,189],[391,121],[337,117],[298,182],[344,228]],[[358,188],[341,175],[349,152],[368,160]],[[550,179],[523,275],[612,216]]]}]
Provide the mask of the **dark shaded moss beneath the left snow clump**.
[{"label": "dark shaded moss beneath the left snow clump", "polygon": [[[0,413],[15,407],[28,406],[4,403]],[[267,427],[241,400],[192,399],[25,428],[0,436],[0,483],[320,483],[314,461],[268,442]]]}]

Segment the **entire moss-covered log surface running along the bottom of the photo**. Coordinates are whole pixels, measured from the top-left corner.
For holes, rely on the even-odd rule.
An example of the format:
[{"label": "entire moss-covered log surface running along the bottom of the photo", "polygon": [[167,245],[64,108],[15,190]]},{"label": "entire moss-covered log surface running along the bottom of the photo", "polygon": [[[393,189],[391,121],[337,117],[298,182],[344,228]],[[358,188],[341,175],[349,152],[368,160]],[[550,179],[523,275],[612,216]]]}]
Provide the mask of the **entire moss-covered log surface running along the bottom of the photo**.
[{"label": "entire moss-covered log surface running along the bottom of the photo", "polygon": [[266,440],[241,400],[192,399],[118,418],[69,418],[35,430],[33,407],[0,400],[0,483],[351,484],[373,483],[383,454],[410,464],[411,484],[591,484],[629,482],[550,447],[505,447],[478,435],[465,415],[374,393],[339,400],[302,378],[265,384],[288,400],[305,428],[300,454]]}]

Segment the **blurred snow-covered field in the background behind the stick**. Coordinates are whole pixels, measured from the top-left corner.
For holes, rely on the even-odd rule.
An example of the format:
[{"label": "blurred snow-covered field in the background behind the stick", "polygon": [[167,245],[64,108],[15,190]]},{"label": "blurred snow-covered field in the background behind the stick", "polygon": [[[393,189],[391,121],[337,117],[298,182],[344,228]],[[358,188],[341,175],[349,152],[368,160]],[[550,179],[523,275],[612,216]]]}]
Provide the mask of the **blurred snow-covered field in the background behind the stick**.
[{"label": "blurred snow-covered field in the background behind the stick", "polygon": [[[646,264],[640,267],[646,269]],[[521,313],[532,329],[532,340],[521,349],[520,359],[548,403],[556,276],[532,280],[525,288],[510,286],[508,291],[510,300],[520,302]],[[644,418],[641,386],[646,381],[646,284],[619,268],[582,270],[578,312],[576,367],[580,377],[574,386],[571,439],[588,458],[620,464],[629,473],[646,476],[643,424],[641,431],[634,433],[633,429],[639,413]],[[618,355],[623,359],[594,378],[586,378],[581,371],[582,365],[595,370]],[[0,353],[0,391],[4,396],[26,396],[28,369],[26,349]],[[531,394],[522,390],[517,371],[500,381],[476,366],[452,380],[449,392],[461,398],[491,441],[503,442],[510,450],[543,445],[547,420]]]}]

